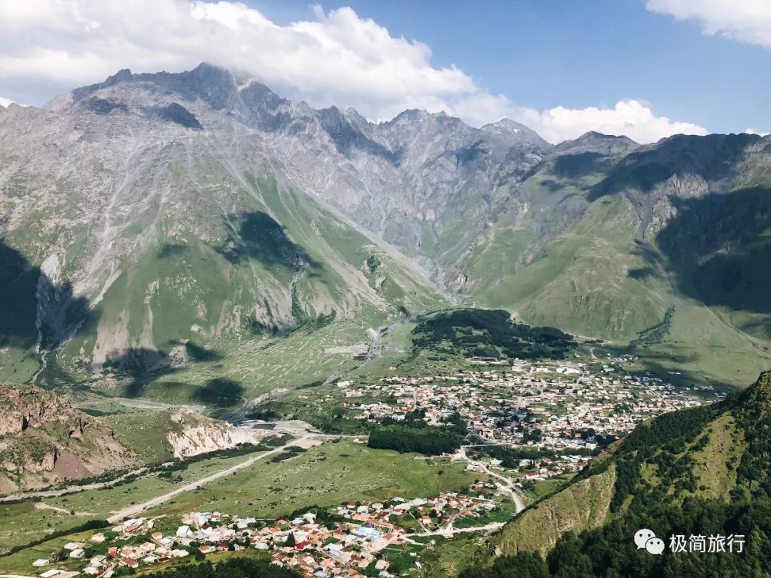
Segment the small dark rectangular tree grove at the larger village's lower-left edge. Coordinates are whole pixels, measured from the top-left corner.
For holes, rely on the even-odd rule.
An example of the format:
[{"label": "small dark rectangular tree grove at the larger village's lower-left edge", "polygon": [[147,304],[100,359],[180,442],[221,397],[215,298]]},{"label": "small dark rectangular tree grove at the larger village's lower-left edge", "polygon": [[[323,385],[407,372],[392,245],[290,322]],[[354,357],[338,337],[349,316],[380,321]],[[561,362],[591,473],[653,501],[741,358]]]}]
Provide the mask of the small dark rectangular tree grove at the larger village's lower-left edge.
[{"label": "small dark rectangular tree grove at the larger village's lower-left edge", "polygon": [[369,432],[367,445],[374,449],[395,449],[399,453],[417,452],[440,455],[460,448],[463,435],[449,427],[413,425],[409,422],[379,425]]}]

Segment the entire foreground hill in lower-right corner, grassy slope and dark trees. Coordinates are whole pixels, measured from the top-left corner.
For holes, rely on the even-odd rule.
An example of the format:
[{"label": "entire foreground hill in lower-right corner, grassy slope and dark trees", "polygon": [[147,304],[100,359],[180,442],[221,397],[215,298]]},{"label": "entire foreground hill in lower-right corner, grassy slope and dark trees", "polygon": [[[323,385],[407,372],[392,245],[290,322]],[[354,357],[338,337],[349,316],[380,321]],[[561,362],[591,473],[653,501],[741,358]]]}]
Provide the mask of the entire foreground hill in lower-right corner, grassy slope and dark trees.
[{"label": "entire foreground hill in lower-right corner, grassy slope and dark trees", "polygon": [[[771,372],[725,402],[639,425],[490,543],[496,566],[463,576],[767,576],[771,563]],[[662,556],[633,537],[651,529]],[[742,553],[672,552],[669,536],[743,536]],[[545,556],[540,558],[540,556]],[[508,569],[508,570],[507,570]],[[513,570],[512,570],[513,569]]]}]

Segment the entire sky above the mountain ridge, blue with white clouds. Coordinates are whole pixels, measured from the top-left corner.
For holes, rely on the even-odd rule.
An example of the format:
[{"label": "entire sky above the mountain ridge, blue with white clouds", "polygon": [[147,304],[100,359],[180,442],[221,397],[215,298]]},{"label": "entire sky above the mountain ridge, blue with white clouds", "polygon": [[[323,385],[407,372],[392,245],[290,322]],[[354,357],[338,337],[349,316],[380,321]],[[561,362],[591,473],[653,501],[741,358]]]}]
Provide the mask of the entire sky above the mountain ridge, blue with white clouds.
[{"label": "entire sky above the mountain ridge, blue with white clouds", "polygon": [[771,0],[0,2],[0,105],[204,61],[373,122],[507,116],[552,143],[771,130]]}]

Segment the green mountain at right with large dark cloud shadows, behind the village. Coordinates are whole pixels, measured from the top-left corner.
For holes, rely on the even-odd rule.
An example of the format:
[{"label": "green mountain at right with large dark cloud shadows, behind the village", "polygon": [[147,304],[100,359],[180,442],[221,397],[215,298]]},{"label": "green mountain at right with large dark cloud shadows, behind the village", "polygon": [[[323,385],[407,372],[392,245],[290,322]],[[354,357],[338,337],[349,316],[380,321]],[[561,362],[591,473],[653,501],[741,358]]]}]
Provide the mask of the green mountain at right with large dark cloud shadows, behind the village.
[{"label": "green mountain at right with large dark cloud shadows, behind the village", "polygon": [[771,359],[769,158],[749,135],[563,143],[502,185],[451,285],[653,369],[742,386]]}]

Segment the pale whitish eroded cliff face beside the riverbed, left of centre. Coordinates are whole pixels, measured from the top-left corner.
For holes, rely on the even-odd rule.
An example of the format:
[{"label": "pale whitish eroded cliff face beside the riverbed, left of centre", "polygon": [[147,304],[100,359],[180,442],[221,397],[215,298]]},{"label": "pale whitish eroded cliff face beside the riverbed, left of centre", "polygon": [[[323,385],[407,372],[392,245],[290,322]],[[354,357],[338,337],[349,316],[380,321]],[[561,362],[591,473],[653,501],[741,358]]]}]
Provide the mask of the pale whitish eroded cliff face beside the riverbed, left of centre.
[{"label": "pale whitish eroded cliff face beside the riverbed, left of centre", "polygon": [[176,458],[187,458],[256,441],[254,432],[246,428],[236,428],[227,422],[204,418],[187,408],[173,410],[170,420],[178,426],[166,436]]}]

